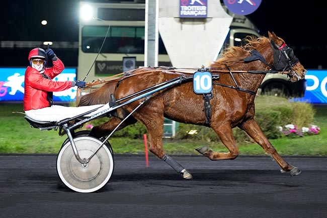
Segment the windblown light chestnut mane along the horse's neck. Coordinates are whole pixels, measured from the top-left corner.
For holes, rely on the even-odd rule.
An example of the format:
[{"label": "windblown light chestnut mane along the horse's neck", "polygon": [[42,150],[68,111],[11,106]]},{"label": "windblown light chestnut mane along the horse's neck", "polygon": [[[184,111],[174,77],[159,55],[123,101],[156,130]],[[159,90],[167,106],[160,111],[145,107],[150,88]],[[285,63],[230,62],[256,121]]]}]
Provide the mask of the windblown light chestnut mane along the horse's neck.
[{"label": "windblown light chestnut mane along the horse's neck", "polygon": [[211,66],[225,68],[225,64],[233,66],[243,63],[243,59],[249,56],[249,51],[254,49],[259,50],[269,44],[270,39],[264,36],[258,38],[248,36],[245,42],[246,44],[243,46],[228,46],[225,48],[223,50],[223,56],[219,60],[213,62]]}]

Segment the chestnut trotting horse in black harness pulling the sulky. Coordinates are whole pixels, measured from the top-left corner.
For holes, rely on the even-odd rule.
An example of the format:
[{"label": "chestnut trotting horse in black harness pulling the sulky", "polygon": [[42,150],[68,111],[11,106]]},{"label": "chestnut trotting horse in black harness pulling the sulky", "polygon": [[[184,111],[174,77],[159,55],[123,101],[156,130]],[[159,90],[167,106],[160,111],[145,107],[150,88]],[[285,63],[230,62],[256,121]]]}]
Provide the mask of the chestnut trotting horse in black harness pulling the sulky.
[{"label": "chestnut trotting horse in black harness pulling the sulky", "polygon": [[[292,82],[303,79],[306,74],[306,69],[284,40],[274,32],[268,32],[268,35],[269,37],[257,39],[248,37],[246,45],[226,48],[223,57],[208,67],[210,72],[222,72],[218,79],[212,79],[209,101],[204,101],[203,95],[193,91],[192,81],[181,82],[153,93],[135,112],[132,111],[141,100],[118,108],[109,121],[95,126],[90,135],[102,137],[110,134],[132,113],[117,130],[137,121],[143,123],[148,130],[149,151],[169,164],[183,178],[192,179],[191,173],[162,148],[163,118],[211,127],[229,150],[227,153],[214,152],[206,146],[196,149],[212,161],[233,160],[238,156],[232,128],[239,127],[272,156],[282,171],[289,172],[291,176],[300,174],[298,168],[289,165],[277,153],[254,119],[256,93],[268,72],[287,71]],[[159,83],[185,76],[187,73],[169,68],[135,69],[126,76],[109,81],[101,88],[82,96],[78,106],[114,102],[114,99],[122,99]],[[209,110],[204,106],[206,103],[210,105]]]}]

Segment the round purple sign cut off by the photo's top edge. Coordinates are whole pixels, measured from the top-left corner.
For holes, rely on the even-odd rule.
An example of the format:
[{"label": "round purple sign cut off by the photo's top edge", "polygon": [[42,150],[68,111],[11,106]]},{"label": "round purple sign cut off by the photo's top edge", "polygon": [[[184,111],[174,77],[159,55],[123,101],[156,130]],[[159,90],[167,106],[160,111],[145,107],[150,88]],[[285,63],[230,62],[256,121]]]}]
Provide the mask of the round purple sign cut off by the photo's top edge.
[{"label": "round purple sign cut off by the photo's top edge", "polygon": [[261,0],[224,0],[224,4],[236,15],[249,15],[259,8]]}]

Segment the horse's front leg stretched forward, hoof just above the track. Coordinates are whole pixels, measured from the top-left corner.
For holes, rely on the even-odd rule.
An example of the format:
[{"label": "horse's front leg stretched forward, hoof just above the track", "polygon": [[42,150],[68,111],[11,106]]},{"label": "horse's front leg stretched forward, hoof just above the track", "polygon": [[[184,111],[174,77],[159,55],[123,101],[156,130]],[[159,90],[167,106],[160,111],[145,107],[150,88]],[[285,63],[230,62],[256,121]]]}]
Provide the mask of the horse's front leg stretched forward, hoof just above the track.
[{"label": "horse's front leg stretched forward, hoof just above the track", "polygon": [[255,119],[249,119],[243,122],[239,128],[244,130],[248,133],[250,137],[252,137],[268,154],[270,154],[274,160],[279,164],[282,170],[290,172],[291,176],[296,176],[301,173],[296,167],[289,165],[284,159],[278,154],[276,149],[267,139],[265,134],[262,132],[261,128],[259,127],[257,121]]}]

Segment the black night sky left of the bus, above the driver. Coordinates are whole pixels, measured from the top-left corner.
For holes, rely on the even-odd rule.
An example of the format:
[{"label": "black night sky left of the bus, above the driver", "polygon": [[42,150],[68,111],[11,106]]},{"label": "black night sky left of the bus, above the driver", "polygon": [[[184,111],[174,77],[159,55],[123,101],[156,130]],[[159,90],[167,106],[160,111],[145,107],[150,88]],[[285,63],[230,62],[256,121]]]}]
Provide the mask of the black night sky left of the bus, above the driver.
[{"label": "black night sky left of the bus, above the driver", "polygon": [[[78,0],[14,0],[1,7],[0,40],[78,41]],[[46,26],[41,20],[47,20]]]}]

